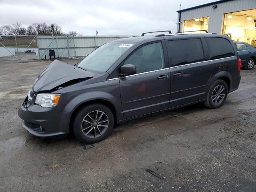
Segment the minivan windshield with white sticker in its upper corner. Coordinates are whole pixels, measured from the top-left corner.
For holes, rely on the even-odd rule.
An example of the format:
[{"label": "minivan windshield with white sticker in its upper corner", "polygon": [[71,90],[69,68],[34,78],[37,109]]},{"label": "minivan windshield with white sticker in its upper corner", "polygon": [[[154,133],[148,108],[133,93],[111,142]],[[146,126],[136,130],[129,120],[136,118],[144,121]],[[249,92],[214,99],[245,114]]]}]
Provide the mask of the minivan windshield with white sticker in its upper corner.
[{"label": "minivan windshield with white sticker in its upper corner", "polygon": [[134,44],[134,42],[108,42],[86,56],[77,66],[88,71],[106,72]]}]

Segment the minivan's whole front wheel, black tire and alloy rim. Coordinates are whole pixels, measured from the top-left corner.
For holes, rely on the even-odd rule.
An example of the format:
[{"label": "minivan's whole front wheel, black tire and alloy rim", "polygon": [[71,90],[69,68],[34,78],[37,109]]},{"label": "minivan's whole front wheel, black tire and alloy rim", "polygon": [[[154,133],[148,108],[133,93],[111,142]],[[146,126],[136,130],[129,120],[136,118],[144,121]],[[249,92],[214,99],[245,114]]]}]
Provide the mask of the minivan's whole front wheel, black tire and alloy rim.
[{"label": "minivan's whole front wheel, black tire and alloy rim", "polygon": [[102,104],[89,104],[80,109],[73,121],[74,136],[84,144],[104,140],[112,132],[114,115]]}]

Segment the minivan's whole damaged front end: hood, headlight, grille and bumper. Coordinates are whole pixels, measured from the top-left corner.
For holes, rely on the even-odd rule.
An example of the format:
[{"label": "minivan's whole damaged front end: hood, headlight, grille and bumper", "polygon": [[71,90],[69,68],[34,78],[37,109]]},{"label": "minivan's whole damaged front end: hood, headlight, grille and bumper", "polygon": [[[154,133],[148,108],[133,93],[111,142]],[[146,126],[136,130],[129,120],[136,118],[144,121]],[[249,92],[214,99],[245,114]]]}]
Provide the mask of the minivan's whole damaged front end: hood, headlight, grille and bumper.
[{"label": "minivan's whole damaged front end: hood, headlight, grille and bumper", "polygon": [[[20,105],[22,126],[31,134],[52,137],[69,133],[70,111],[58,110],[63,94],[58,90],[88,80],[93,73],[55,60],[35,80],[32,90]],[[60,103],[60,102],[59,102]]]}]

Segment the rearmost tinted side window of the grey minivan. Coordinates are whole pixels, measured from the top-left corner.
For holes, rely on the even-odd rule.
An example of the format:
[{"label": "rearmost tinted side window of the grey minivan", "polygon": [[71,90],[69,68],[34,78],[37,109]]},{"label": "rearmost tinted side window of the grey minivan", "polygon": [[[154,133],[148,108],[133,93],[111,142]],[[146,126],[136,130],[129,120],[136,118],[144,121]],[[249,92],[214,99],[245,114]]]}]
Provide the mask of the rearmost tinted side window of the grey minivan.
[{"label": "rearmost tinted side window of the grey minivan", "polygon": [[235,55],[234,49],[227,39],[220,37],[206,37],[205,39],[211,60]]}]

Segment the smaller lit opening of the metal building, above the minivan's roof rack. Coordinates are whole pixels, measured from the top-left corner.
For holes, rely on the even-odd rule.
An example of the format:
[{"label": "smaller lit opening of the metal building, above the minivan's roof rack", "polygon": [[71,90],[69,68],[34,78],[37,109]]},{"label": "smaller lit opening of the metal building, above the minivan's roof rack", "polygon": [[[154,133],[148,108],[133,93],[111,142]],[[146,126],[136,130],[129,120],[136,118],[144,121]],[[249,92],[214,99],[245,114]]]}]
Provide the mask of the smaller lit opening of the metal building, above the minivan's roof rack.
[{"label": "smaller lit opening of the metal building, above the minivan's roof rack", "polygon": [[208,30],[209,17],[201,17],[183,21],[183,32]]}]

